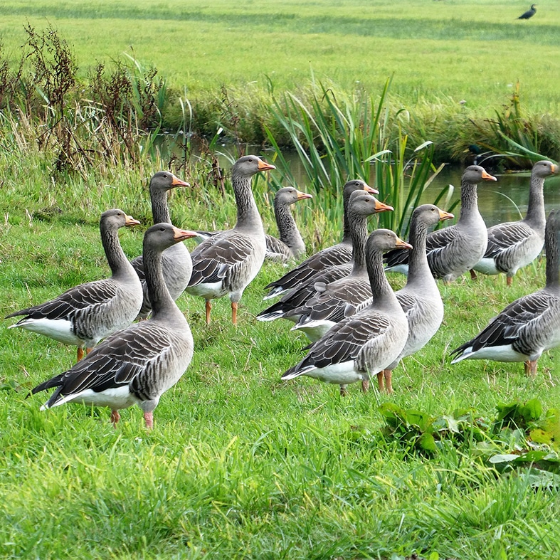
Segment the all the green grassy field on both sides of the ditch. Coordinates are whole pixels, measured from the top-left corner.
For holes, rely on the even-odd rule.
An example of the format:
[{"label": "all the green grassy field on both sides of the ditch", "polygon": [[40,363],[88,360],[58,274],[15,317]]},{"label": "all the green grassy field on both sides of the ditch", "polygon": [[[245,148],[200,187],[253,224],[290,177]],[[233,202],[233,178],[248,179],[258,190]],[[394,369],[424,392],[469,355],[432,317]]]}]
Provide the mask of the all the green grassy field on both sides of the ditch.
[{"label": "all the green grassy field on both sides of the ditch", "polygon": [[[133,53],[181,95],[184,88],[194,97],[219,95],[222,83],[243,91],[254,82],[262,92],[268,78],[279,90],[297,91],[311,73],[341,88],[356,80],[381,88],[394,72],[391,95],[418,107],[465,99],[467,110],[490,113],[519,79],[527,108],[555,115],[560,8],[539,4],[534,19],[517,21],[528,7],[517,0],[392,7],[11,0],[0,21],[4,51],[18,52],[26,21],[36,28],[50,22],[75,48],[81,72]],[[95,160],[87,174],[57,174],[54,159],[33,134],[0,121],[1,317],[108,274],[97,225],[107,208],[142,221],[120,232],[125,253],[138,255],[151,223],[147,181],[169,165],[142,154],[134,165]],[[177,226],[233,222],[231,186],[222,199],[207,180],[209,165],[188,168],[195,187],[170,197]],[[259,176],[254,191],[265,228],[275,231],[268,178]],[[298,205],[308,253],[339,239],[339,199],[323,192]],[[280,381],[307,344],[291,324],[255,320],[281,265],[265,265],[245,291],[237,328],[226,300],[215,303],[206,327],[204,301],[183,295],[178,304],[194,334],[194,359],[162,396],[151,432],[138,408],[123,411],[117,429],[106,409],[39,411],[46,393],[28,396],[29,389],[68,369],[75,349],[8,329],[14,319],[4,320],[0,557],[553,558],[560,547],[560,415],[552,412],[560,402],[558,349],[541,357],[535,379],[522,364],[451,365],[449,357],[504,305],[539,289],[544,263],[522,270],[509,289],[503,277],[441,285],[444,323],[396,369],[393,396],[350,386],[342,398],[336,386],[312,379]],[[390,281],[403,285],[399,275]],[[542,411],[532,422],[517,416],[516,428],[498,421],[504,405],[532,403],[534,411],[537,401]],[[391,406],[416,423],[390,430],[383,411]],[[492,463],[535,445],[529,430],[545,424],[556,429],[542,447],[547,460],[511,470]],[[428,433],[435,449],[422,446]]]}]

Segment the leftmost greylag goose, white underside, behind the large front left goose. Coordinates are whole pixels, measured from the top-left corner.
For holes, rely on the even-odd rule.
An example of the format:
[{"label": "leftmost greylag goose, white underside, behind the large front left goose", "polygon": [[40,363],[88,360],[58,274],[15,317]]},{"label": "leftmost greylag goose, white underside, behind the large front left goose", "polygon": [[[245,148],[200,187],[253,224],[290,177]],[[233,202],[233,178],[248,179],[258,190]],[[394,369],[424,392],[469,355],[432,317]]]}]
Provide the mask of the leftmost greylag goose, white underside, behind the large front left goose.
[{"label": "leftmost greylag goose, white underside, behind the large front left goose", "polygon": [[103,212],[100,233],[111,277],[80,284],[54,300],[11,313],[6,319],[24,317],[9,328],[20,327],[77,346],[80,361],[84,349],[89,353],[101,339],[132,323],[142,305],[142,286],[117,232],[139,223],[118,208]]}]

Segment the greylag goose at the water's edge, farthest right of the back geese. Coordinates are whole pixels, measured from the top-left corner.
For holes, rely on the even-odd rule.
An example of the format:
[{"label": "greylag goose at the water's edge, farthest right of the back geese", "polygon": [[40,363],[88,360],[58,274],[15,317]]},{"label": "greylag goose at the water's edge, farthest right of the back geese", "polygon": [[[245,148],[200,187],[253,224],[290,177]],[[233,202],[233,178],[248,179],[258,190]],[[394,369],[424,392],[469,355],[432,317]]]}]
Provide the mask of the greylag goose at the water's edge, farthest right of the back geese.
[{"label": "greylag goose at the water's edge, farthest right of the back geese", "polygon": [[[488,228],[488,245],[484,256],[473,267],[479,273],[506,275],[507,285],[519,268],[529,265],[544,245],[544,178],[558,171],[558,166],[545,159],[534,164],[529,187],[527,216],[516,222],[498,223]],[[472,273],[475,278],[475,273]]]}]

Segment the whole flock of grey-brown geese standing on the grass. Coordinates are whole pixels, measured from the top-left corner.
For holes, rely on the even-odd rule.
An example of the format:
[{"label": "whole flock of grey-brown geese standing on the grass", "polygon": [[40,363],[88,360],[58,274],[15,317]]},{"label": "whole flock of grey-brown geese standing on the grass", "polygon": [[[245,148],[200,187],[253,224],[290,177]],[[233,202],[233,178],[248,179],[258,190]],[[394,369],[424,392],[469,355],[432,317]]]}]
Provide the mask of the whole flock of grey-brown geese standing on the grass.
[{"label": "whole flock of grey-brown geese standing on the grass", "polygon": [[[256,156],[237,160],[232,171],[236,225],[213,232],[172,226],[167,191],[189,184],[167,171],[154,174],[149,194],[155,225],[144,234],[142,256],[132,262],[120,246],[118,230],[139,222],[118,208],[102,213],[100,236],[110,278],[8,315],[21,317],[11,327],[78,347],[73,367],[32,390],[55,389],[41,409],[67,402],[108,406],[116,425],[119,411],[137,404],[152,428],[159,398],[179,381],[194,352],[189,324],[175,303],[179,295],[204,298],[207,324],[211,301],[227,295],[236,324],[243,290],[265,258],[290,262],[305,251],[290,205],[311,196],[293,187],[280,189],[275,197],[280,239],[265,235],[251,178],[271,169],[275,167]],[[527,216],[486,228],[477,206],[477,184],[496,178],[480,166],[467,167],[457,223],[428,233],[454,216],[433,204],[418,206],[408,241],[387,229],[368,236],[368,216],[393,208],[378,201],[377,191],[364,181],[348,181],[342,193],[342,241],[267,286],[264,299],[280,299],[257,319],[287,319],[310,339],[305,358],[281,379],[310,376],[339,385],[344,394],[357,381],[367,391],[376,375],[379,390],[391,393],[393,369],[424,347],[443,321],[436,279],[453,282],[468,271],[473,277],[476,272],[503,273],[510,285],[517,270],[544,246],[544,288],[509,304],[480,334],[451,352],[452,363],[523,361],[534,376],[542,352],[560,344],[560,211],[551,211],[546,219],[543,195],[544,179],[557,171],[549,161],[534,164]],[[191,253],[181,243],[189,238],[202,240]],[[407,275],[398,292],[389,285],[387,270]]]}]

